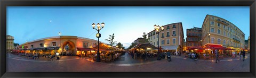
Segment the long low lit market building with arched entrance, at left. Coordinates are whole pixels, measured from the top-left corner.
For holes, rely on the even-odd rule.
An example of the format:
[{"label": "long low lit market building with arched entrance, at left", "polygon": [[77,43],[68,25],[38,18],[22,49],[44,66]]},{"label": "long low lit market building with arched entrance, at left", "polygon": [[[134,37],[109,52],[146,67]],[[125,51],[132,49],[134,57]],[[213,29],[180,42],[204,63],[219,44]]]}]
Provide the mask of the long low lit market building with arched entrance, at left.
[{"label": "long low lit market building with arched entrance, at left", "polygon": [[[32,54],[54,55],[55,53],[59,53],[61,55],[76,56],[84,53],[97,53],[98,41],[77,36],[56,36],[28,41],[25,44],[15,47],[15,49],[20,52]],[[120,50],[119,48],[100,42],[100,53],[101,51],[110,51],[113,49]]]}]

